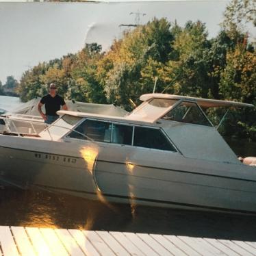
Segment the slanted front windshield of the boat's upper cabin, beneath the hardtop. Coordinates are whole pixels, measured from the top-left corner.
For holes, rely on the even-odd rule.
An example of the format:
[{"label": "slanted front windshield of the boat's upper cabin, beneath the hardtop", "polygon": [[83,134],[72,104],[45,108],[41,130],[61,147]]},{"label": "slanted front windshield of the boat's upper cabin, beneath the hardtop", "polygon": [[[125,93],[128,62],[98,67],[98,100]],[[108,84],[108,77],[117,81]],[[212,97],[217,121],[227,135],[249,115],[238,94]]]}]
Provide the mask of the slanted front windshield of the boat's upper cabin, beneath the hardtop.
[{"label": "slanted front windshield of the boat's upper cabin, beneath the hardtop", "polygon": [[149,120],[156,120],[175,103],[177,103],[177,100],[174,99],[152,99],[151,101],[142,103],[136,110],[133,110],[129,117],[140,116]]}]

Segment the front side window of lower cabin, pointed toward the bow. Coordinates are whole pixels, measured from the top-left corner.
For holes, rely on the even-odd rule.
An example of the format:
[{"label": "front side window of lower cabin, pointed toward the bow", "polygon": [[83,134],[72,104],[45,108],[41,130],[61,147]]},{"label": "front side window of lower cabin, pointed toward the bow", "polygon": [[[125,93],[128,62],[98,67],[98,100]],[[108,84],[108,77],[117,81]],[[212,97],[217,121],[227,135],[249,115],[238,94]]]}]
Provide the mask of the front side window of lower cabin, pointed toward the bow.
[{"label": "front side window of lower cabin, pointed toward the bow", "polygon": [[[75,131],[70,133],[71,138],[77,138],[82,140],[87,140],[86,136],[92,140],[97,140],[101,142],[110,142],[111,138],[112,123],[101,122],[97,120],[84,120]],[[82,136],[82,134],[86,136]]]}]

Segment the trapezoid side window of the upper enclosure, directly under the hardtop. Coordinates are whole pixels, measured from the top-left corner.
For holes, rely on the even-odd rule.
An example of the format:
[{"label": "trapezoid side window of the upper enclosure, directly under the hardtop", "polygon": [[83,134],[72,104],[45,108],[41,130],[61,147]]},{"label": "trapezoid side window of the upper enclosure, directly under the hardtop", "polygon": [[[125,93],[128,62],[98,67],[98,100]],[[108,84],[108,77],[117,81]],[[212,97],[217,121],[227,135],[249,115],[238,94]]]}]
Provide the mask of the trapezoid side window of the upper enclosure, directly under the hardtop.
[{"label": "trapezoid side window of the upper enclosure, directly under the hardtop", "polygon": [[192,123],[194,125],[212,126],[199,106],[189,101],[182,101],[162,118],[182,123]]}]

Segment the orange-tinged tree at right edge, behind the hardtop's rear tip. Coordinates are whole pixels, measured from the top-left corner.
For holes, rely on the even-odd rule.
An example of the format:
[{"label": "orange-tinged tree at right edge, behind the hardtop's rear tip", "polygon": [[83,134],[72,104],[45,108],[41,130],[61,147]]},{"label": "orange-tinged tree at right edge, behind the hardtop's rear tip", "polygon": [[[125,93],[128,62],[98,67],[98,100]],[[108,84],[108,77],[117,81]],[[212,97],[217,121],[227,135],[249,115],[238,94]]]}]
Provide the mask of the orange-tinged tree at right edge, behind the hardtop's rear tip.
[{"label": "orange-tinged tree at right edge, behind the hardtop's rear tip", "polygon": [[[220,93],[223,99],[252,103],[256,105],[256,53],[246,51],[238,44],[227,53],[227,66],[221,73]],[[240,120],[238,122],[238,120]],[[256,111],[252,109],[234,110],[233,118],[226,131],[240,137],[256,140]]]}]

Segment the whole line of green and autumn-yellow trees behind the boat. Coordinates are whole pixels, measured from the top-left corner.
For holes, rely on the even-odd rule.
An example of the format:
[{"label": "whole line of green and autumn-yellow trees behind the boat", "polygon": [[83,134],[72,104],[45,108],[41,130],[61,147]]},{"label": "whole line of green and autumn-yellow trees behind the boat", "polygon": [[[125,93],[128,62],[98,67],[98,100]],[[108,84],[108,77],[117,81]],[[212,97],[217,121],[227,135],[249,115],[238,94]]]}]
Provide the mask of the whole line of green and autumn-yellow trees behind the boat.
[{"label": "whole line of green and autumn-yellow trees behind the boat", "polygon": [[[239,12],[251,6],[235,9],[238,2],[247,1],[230,3],[215,38],[208,38],[201,21],[188,21],[181,27],[166,18],[153,18],[125,31],[106,52],[97,43],[86,44],[78,53],[25,71],[18,94],[22,101],[42,97],[54,82],[66,99],[115,103],[130,111],[131,101],[138,105],[141,94],[153,92],[157,79],[155,92],[256,105],[255,47],[242,30],[241,18],[238,21]],[[254,24],[251,13],[246,14],[243,17]],[[216,123],[220,112],[207,110]],[[255,108],[231,110],[227,119],[221,127],[223,135],[256,140]]]}]

